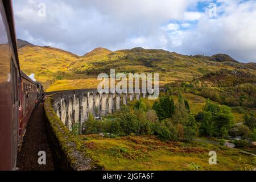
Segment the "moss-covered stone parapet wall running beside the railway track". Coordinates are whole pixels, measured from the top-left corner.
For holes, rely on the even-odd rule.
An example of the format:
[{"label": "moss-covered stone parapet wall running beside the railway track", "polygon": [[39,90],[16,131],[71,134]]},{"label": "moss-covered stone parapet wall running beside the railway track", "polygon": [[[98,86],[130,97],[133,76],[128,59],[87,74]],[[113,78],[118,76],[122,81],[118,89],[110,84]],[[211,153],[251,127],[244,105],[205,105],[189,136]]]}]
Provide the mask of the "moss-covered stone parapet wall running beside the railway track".
[{"label": "moss-covered stone parapet wall running beside the railway track", "polygon": [[[49,146],[56,170],[103,170],[104,166],[98,162],[93,154],[84,148],[80,136],[76,136],[65,127],[52,107],[52,98],[44,102],[45,126]],[[64,105],[63,107],[67,107]],[[58,115],[57,115],[58,114]]]}]

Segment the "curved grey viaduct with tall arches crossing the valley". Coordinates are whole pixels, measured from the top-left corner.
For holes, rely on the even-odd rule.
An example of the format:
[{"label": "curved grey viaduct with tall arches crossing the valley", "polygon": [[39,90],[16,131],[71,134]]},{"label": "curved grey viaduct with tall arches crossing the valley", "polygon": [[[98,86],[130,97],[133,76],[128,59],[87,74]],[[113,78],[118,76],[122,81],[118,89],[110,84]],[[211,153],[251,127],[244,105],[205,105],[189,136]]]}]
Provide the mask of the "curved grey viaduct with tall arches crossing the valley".
[{"label": "curved grey viaduct with tall arches crossing the valley", "polygon": [[[166,92],[166,89],[159,89],[159,92]],[[146,98],[146,94],[99,93],[97,89],[67,90],[47,95],[53,98],[53,109],[69,130],[75,123],[85,122],[89,113],[101,118],[119,110],[122,104],[127,105],[127,101]]]}]

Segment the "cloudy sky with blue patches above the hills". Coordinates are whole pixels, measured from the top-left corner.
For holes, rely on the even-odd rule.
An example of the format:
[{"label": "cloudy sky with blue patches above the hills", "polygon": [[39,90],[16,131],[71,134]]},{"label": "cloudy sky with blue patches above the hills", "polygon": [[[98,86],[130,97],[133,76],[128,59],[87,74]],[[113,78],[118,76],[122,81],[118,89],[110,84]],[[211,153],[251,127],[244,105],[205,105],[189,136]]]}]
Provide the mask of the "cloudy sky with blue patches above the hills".
[{"label": "cloudy sky with blue patches above the hills", "polygon": [[256,62],[256,1],[14,0],[17,37],[84,55],[97,47],[227,53]]}]

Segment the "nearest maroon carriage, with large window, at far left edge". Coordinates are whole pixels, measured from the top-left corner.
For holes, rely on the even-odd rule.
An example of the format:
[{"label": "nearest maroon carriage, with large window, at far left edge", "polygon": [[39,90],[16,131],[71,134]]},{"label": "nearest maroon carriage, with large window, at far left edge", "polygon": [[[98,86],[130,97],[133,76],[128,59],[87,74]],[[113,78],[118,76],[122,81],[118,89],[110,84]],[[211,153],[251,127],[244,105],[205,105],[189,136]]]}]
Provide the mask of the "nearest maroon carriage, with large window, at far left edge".
[{"label": "nearest maroon carriage, with large window, at far left edge", "polygon": [[18,150],[20,72],[10,1],[0,0],[0,170],[13,170]]}]

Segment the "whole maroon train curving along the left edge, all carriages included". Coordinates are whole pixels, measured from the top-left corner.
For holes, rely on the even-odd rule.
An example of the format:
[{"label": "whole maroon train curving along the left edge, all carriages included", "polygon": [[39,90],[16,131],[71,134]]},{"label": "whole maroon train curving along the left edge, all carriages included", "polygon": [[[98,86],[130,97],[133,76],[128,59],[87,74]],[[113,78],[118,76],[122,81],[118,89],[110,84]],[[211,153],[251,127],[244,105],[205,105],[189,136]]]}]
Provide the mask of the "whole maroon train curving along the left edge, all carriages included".
[{"label": "whole maroon train curving along the left edge, all carriages included", "polygon": [[15,170],[18,147],[43,86],[20,72],[12,2],[0,0],[0,171]]}]

